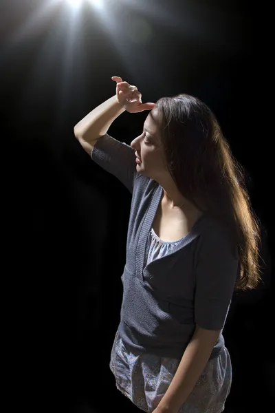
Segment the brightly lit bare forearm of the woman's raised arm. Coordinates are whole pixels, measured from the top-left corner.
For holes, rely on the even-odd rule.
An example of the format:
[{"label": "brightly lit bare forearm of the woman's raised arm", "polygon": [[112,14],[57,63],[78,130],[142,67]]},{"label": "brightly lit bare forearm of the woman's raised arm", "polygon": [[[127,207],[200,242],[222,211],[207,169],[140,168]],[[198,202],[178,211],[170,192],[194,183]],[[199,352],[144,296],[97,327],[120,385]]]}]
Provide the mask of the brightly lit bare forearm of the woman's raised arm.
[{"label": "brightly lit bare forearm of the woman's raised arm", "polygon": [[125,112],[124,107],[113,96],[92,110],[74,127],[76,138],[83,138],[87,142],[95,140],[107,133],[113,120]]}]

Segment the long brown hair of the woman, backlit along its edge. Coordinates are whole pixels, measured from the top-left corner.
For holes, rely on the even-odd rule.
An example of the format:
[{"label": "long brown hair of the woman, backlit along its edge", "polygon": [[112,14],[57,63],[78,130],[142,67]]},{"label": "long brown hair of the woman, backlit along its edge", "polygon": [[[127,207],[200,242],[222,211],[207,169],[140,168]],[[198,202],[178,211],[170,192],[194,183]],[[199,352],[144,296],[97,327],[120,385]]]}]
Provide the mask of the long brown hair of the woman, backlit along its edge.
[{"label": "long brown hair of the woman, backlit along its edge", "polygon": [[179,191],[230,229],[241,267],[235,289],[256,288],[261,279],[260,224],[243,167],[232,155],[217,119],[201,100],[186,94],[160,98],[155,109],[160,112],[168,170]]}]

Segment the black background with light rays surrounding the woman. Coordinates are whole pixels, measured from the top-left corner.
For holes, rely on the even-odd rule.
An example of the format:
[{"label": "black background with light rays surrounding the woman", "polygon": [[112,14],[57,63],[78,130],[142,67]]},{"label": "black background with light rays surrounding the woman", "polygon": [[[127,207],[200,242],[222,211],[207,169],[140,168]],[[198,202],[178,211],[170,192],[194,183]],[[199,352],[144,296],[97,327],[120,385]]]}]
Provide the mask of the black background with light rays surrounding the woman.
[{"label": "black background with light rays surrounding the woman", "polygon": [[[183,92],[205,101],[248,173],[263,226],[264,283],[232,300],[224,336],[234,378],[225,413],[265,412],[274,389],[273,137],[261,9],[245,1],[104,4],[100,14],[87,2],[77,17],[65,1],[1,3],[12,401],[36,411],[49,403],[51,412],[137,412],[109,370],[131,196],[74,138],[74,125],[115,94],[111,76],[121,76],[143,102]],[[109,134],[130,143],[147,113],[125,112]]]}]

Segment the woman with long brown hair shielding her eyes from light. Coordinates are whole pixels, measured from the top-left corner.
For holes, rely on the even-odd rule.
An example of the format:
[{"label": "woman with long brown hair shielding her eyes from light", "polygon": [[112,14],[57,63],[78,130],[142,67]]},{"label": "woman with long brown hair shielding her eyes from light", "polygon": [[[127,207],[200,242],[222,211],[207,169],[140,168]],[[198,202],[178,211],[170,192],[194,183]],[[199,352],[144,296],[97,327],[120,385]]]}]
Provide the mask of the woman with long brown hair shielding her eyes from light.
[{"label": "woman with long brown hair shielding her eyes from light", "polygon": [[[144,412],[219,413],[232,368],[222,330],[235,289],[260,279],[259,225],[241,167],[210,109],[185,94],[116,94],[74,128],[91,159],[132,193],[120,325],[110,368]],[[107,131],[150,110],[131,147]]]}]

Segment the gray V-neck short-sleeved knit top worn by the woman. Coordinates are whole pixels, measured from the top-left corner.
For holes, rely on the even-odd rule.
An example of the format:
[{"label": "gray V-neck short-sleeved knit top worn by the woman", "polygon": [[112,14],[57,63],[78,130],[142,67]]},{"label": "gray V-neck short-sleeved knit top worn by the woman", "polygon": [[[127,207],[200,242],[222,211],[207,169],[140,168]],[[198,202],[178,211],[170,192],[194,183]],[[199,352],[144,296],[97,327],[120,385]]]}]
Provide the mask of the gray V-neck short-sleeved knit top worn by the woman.
[{"label": "gray V-neck short-sleeved knit top worn by the woman", "polygon": [[[239,277],[229,232],[204,214],[164,256],[147,262],[162,187],[137,173],[133,149],[108,134],[98,139],[91,159],[132,193],[118,328],[124,346],[131,352],[181,359],[196,324],[208,330],[222,330],[225,324]],[[221,332],[210,358],[223,344]]]}]

